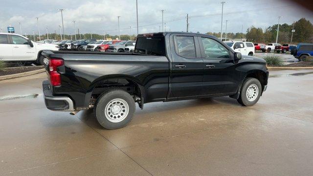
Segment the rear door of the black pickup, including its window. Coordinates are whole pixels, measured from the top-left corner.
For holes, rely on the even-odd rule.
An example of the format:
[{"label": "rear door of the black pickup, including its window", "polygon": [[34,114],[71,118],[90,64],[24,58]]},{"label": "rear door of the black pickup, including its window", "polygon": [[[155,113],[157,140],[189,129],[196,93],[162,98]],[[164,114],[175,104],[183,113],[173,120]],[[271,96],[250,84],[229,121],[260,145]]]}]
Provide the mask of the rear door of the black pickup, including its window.
[{"label": "rear door of the black pickup, including its window", "polygon": [[203,61],[195,34],[170,36],[172,74],[170,99],[201,95]]}]

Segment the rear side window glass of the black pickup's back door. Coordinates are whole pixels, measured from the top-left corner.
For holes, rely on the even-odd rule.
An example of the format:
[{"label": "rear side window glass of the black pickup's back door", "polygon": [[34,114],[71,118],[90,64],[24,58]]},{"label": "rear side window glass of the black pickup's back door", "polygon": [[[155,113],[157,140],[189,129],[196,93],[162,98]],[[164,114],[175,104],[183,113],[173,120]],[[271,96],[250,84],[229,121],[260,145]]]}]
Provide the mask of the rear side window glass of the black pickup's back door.
[{"label": "rear side window glass of the black pickup's back door", "polygon": [[196,46],[192,36],[176,36],[177,54],[186,58],[196,57]]}]

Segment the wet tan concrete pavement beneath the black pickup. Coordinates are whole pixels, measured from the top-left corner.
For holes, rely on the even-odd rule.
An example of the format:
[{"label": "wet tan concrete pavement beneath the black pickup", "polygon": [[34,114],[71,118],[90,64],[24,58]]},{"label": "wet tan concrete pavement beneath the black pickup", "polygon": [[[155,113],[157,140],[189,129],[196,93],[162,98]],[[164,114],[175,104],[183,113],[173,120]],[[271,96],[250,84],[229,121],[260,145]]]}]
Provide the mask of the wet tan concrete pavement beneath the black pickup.
[{"label": "wet tan concrete pavement beneath the black pickup", "polygon": [[313,173],[313,70],[270,71],[253,107],[229,97],[150,103],[112,131],[91,110],[45,109],[45,78],[0,81],[0,175]]}]

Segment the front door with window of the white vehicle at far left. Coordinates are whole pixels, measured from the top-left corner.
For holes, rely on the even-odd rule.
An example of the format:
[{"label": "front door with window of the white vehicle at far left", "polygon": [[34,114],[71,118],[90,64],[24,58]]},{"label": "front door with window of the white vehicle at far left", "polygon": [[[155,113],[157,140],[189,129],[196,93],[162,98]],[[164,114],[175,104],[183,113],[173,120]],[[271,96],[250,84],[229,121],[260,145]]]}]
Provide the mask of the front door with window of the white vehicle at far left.
[{"label": "front door with window of the white vehicle at far left", "polygon": [[35,45],[31,47],[28,44],[27,39],[17,36],[10,35],[12,38],[12,49],[13,49],[13,60],[14,61],[31,61],[35,60]]}]

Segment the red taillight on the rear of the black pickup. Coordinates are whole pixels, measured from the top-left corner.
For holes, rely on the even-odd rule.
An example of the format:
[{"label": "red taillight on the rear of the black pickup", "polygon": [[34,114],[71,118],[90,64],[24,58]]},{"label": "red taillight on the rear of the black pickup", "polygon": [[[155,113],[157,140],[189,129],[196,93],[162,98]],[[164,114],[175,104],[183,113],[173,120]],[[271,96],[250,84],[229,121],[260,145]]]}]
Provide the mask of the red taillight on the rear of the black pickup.
[{"label": "red taillight on the rear of the black pickup", "polygon": [[49,61],[49,75],[50,83],[52,86],[61,85],[61,75],[57,72],[58,66],[63,66],[64,62],[62,59],[50,59]]}]

